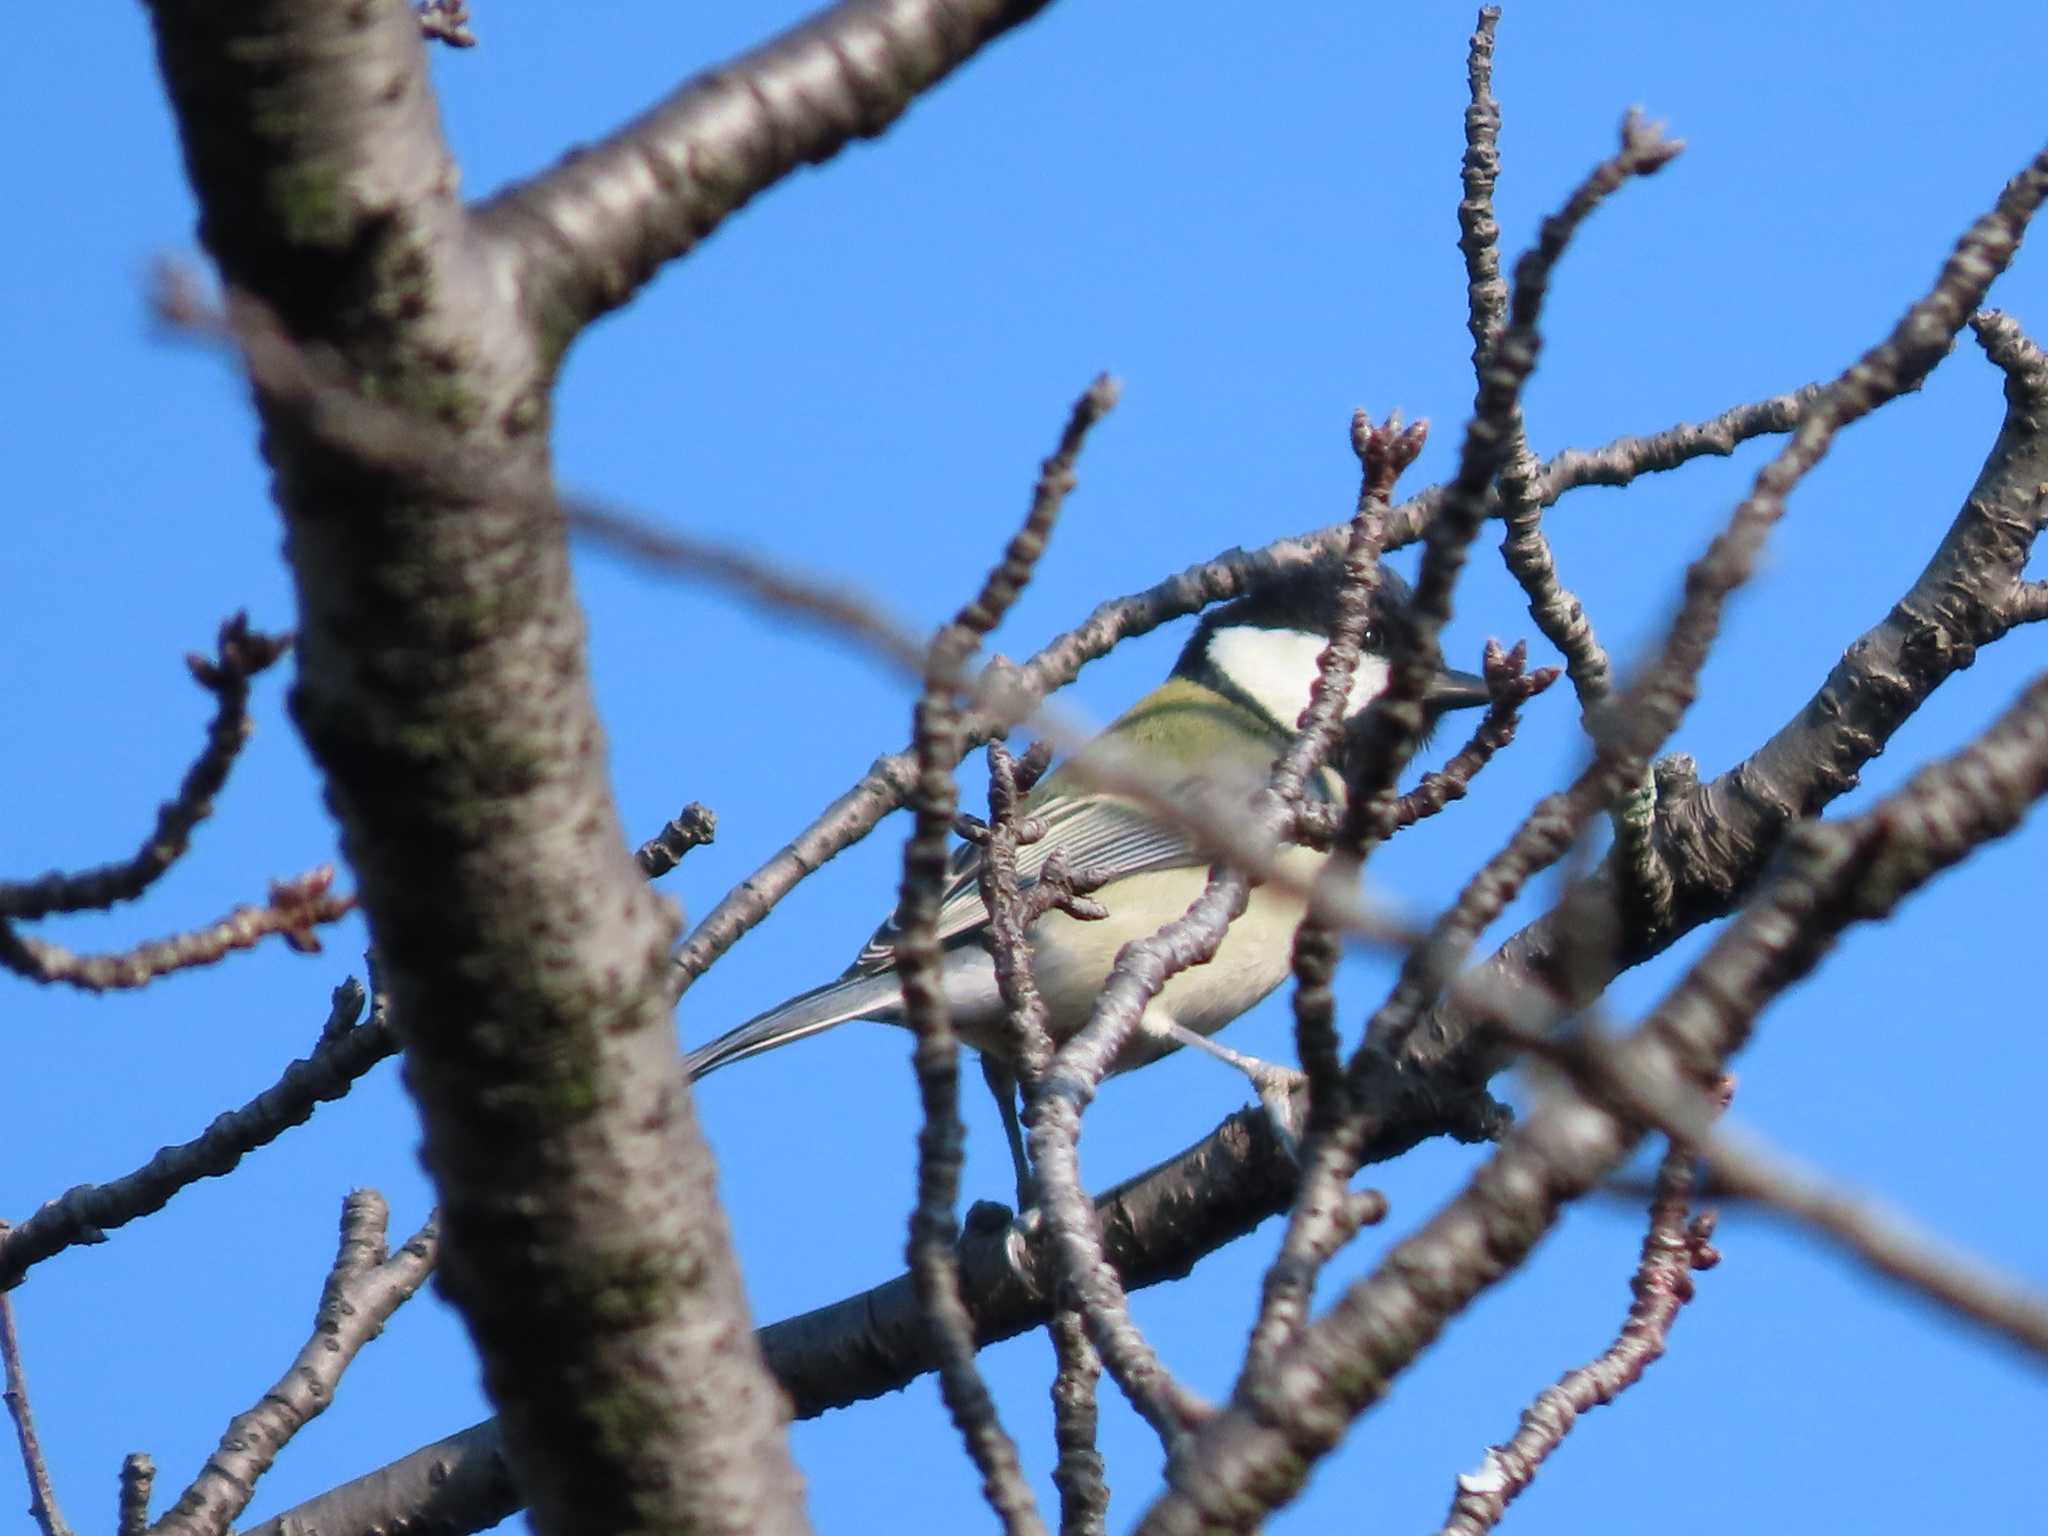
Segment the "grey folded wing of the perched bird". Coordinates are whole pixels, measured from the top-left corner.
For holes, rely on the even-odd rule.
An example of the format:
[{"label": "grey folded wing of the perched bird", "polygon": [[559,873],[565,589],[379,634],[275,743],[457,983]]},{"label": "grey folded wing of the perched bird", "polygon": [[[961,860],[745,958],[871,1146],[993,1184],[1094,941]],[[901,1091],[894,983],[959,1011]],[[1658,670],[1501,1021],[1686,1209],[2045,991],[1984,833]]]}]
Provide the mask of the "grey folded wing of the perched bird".
[{"label": "grey folded wing of the perched bird", "polygon": [[[1038,870],[1055,852],[1065,854],[1069,872],[1092,872],[1102,885],[1149,870],[1196,868],[1210,862],[1184,831],[1153,821],[1143,809],[1114,795],[1053,795],[1032,807],[1032,815],[1044,819],[1044,836],[1018,848],[1022,889],[1036,885]],[[938,942],[971,942],[987,922],[989,909],[981,899],[981,848],[961,844],[946,866]],[[848,975],[874,975],[893,967],[897,938],[901,930],[891,918],[874,930],[848,967]]]}]

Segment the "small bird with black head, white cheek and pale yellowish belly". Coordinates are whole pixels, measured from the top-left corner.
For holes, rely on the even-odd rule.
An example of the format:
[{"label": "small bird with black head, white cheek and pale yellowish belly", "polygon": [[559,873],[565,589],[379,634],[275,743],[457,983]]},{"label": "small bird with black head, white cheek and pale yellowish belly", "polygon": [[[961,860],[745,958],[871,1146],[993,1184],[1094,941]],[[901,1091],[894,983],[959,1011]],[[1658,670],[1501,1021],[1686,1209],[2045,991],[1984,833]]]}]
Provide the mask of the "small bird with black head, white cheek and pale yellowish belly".
[{"label": "small bird with black head, white cheek and pale yellowish belly", "polygon": [[[1317,664],[1337,616],[1341,578],[1343,563],[1325,555],[1204,614],[1171,676],[1024,801],[1024,815],[1040,817],[1044,836],[1018,850],[1020,881],[1028,887],[1047,858],[1059,852],[1071,872],[1087,870],[1102,881],[1094,897],[1108,911],[1083,922],[1055,909],[1032,924],[1032,977],[1044,997],[1055,1044],[1087,1022],[1116,952],[1180,918],[1202,893],[1214,862],[1180,827],[1155,821],[1128,799],[1087,788],[1090,756],[1114,754],[1118,762],[1143,764],[1171,799],[1202,795],[1217,803],[1223,793],[1239,788],[1249,799],[1309,707]],[[1348,719],[1386,688],[1386,635],[1407,602],[1407,584],[1382,569],[1370,602],[1372,623],[1346,700]],[[1446,670],[1432,682],[1423,705],[1434,721],[1442,711],[1487,700],[1481,678]],[[1311,778],[1309,793],[1341,805],[1343,778],[1325,766]],[[1280,850],[1280,864],[1305,879],[1323,858],[1298,846]],[[1303,901],[1292,891],[1253,887],[1249,907],[1231,924],[1217,956],[1165,983],[1112,1071],[1163,1057],[1190,1042],[1188,1032],[1208,1036],[1266,997],[1288,975],[1300,918]],[[987,926],[981,850],[963,844],[954,850],[938,915],[946,999],[961,1038],[985,1059],[999,1059],[1006,1049],[1004,1001],[985,944]],[[885,922],[836,981],[690,1051],[690,1077],[856,1018],[903,1024],[895,940],[895,924]],[[1008,1096],[1004,1104],[1008,1116]]]}]

